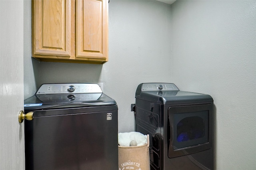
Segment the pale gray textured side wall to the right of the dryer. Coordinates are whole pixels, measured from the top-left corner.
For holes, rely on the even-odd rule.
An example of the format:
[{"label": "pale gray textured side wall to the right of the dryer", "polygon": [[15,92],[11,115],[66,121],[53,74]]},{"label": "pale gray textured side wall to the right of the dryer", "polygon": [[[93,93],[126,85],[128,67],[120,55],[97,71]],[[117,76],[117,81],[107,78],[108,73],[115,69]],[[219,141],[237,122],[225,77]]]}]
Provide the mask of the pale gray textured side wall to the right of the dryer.
[{"label": "pale gray textured side wall to the right of the dryer", "polygon": [[256,169],[256,1],[172,5],[172,82],[210,94],[216,169]]}]

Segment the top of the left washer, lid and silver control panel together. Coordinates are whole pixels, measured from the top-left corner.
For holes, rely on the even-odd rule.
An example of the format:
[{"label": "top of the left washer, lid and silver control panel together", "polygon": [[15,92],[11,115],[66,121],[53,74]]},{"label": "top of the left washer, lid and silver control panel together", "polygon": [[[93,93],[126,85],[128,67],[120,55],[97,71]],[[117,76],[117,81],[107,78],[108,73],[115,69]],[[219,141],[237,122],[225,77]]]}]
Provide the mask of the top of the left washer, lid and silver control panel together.
[{"label": "top of the left washer, lid and silver control panel together", "polygon": [[24,100],[25,111],[110,105],[116,105],[116,101],[103,94],[98,84],[88,83],[43,84],[34,96]]}]

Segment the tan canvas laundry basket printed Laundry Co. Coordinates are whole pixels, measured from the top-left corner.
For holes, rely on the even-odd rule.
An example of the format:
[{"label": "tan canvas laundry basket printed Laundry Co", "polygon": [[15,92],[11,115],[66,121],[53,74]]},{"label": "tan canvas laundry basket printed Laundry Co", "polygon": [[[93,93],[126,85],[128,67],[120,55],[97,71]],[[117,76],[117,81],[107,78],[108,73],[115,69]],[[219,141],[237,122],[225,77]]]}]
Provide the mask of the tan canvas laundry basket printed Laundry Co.
[{"label": "tan canvas laundry basket printed Laundry Co", "polygon": [[118,146],[118,170],[150,170],[149,135],[145,145]]}]

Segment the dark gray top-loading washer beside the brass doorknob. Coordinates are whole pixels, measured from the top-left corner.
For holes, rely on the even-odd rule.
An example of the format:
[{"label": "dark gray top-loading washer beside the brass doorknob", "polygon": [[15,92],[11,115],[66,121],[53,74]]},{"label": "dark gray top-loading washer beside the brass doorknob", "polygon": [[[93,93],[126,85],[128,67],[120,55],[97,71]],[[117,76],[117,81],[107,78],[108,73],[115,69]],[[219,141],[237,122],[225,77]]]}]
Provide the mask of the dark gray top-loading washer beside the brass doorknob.
[{"label": "dark gray top-loading washer beside the brass doorknob", "polygon": [[118,107],[98,84],[43,84],[24,109],[26,170],[118,169]]}]

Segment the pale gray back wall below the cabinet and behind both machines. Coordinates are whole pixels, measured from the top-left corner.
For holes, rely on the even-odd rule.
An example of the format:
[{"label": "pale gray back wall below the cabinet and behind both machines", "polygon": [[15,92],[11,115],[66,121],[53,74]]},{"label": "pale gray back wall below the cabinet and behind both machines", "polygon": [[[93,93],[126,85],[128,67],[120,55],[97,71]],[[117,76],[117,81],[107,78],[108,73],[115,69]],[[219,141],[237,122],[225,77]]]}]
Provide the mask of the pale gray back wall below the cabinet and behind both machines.
[{"label": "pale gray back wall below the cabinet and behind both machines", "polygon": [[[104,93],[118,104],[118,131],[134,131],[134,113],[130,111],[130,104],[135,103],[138,84],[170,82],[170,8],[168,4],[151,0],[110,0],[109,61],[103,65],[38,64],[31,55],[26,55],[24,63],[30,68],[24,68],[25,86],[103,82]],[[30,92],[25,94],[25,99],[34,95],[35,90],[31,89],[28,89]]]}]

